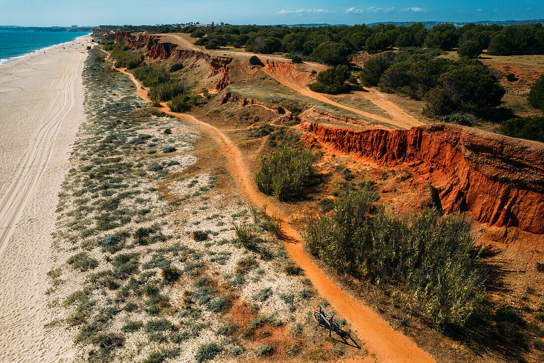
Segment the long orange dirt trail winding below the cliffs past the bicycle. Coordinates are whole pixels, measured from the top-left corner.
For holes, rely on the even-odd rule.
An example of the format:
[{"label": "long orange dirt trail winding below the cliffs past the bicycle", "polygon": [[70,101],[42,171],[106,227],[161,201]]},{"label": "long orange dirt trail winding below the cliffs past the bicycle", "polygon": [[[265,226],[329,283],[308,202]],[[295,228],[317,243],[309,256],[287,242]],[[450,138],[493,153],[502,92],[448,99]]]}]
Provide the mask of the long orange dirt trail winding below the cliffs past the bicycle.
[{"label": "long orange dirt trail winding below the cliffs past the bicycle", "polygon": [[[142,84],[126,69],[117,69],[128,75],[134,82],[138,95],[150,101]],[[221,146],[232,177],[245,197],[255,205],[267,205],[266,213],[281,221],[282,232],[286,240],[286,249],[293,260],[304,270],[314,287],[330,302],[342,316],[351,323],[357,336],[366,343],[365,348],[375,353],[381,362],[433,362],[431,356],[419,349],[416,344],[391,326],[368,306],[361,304],[338,288],[302,251],[302,238],[289,224],[289,219],[282,216],[274,205],[274,199],[259,192],[251,180],[242,152],[221,130],[185,113],[171,112],[163,103],[160,111],[175,116],[185,122],[198,125]],[[372,361],[369,357],[364,361]]]}]

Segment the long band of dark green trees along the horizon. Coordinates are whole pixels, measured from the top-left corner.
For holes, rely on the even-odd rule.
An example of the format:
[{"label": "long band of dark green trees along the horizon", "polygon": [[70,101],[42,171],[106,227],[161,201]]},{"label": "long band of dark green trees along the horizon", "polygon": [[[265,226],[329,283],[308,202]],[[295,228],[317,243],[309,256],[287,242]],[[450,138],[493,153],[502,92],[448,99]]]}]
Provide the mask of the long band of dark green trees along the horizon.
[{"label": "long band of dark green trees along the horizon", "polygon": [[[372,27],[364,24],[319,27],[227,25],[187,26],[181,31],[199,38],[199,44],[208,49],[225,45],[245,46],[250,52],[286,52],[331,65],[345,63],[347,56],[354,51],[376,53],[392,46],[442,50],[462,47],[470,55],[488,48],[491,55],[544,52],[544,28],[540,23],[510,26],[470,23],[461,28],[442,24],[432,29],[426,29],[422,23],[410,26],[379,24]],[[466,42],[471,43],[463,45]]]}]

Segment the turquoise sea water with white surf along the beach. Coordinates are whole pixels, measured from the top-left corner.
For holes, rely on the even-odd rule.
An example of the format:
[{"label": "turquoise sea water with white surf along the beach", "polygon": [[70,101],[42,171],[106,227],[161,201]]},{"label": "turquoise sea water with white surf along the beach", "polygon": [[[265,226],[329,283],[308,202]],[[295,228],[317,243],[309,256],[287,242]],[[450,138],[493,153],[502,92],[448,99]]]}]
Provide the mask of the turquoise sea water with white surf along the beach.
[{"label": "turquoise sea water with white surf along the beach", "polygon": [[0,64],[38,49],[72,41],[89,33],[0,31]]}]

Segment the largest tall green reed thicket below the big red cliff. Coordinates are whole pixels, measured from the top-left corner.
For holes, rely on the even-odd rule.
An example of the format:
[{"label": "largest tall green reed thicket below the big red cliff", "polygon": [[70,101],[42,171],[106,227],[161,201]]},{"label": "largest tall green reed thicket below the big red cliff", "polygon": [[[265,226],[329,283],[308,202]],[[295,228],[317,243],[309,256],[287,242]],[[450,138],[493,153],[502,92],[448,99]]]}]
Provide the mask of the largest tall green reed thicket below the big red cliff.
[{"label": "largest tall green reed thicket below the big red cliff", "polygon": [[436,325],[462,326],[483,301],[485,270],[471,222],[425,209],[411,216],[376,207],[368,193],[343,193],[332,216],[311,219],[304,239],[311,253],[341,273],[403,282],[422,314]]}]

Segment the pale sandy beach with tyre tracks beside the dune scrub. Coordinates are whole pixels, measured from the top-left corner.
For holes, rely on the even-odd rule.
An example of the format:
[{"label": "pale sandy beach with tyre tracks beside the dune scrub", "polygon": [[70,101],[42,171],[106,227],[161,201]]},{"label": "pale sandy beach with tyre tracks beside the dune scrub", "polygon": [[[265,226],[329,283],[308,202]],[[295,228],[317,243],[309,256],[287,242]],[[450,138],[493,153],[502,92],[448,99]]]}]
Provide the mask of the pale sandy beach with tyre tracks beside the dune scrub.
[{"label": "pale sandy beach with tyre tracks beside the dune scrub", "polygon": [[84,119],[86,47],[69,45],[0,66],[0,362],[71,356],[44,329],[54,210]]}]

